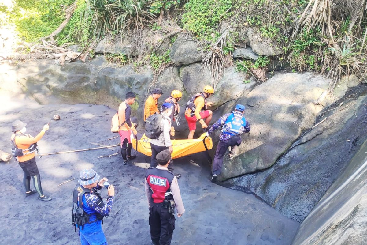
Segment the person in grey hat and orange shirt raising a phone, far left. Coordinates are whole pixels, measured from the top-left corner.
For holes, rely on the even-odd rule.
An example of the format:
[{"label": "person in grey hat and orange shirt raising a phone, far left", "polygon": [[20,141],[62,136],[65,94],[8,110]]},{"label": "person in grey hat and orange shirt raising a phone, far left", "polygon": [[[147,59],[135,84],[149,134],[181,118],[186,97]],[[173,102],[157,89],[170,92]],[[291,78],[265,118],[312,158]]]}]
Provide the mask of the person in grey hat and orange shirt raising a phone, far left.
[{"label": "person in grey hat and orange shirt raising a phone, far left", "polygon": [[[43,194],[41,186],[41,176],[36,164],[37,141],[39,141],[46,131],[49,129],[49,125],[43,126],[42,131],[37,134],[36,137],[32,137],[26,132],[26,123],[21,120],[15,120],[12,125],[11,143],[12,153],[14,158],[19,162],[19,166],[24,172],[23,184],[25,187],[25,196],[28,197],[38,192],[38,199],[41,201],[51,201],[51,197]],[[36,190],[30,190],[30,178],[33,179],[33,185]]]}]

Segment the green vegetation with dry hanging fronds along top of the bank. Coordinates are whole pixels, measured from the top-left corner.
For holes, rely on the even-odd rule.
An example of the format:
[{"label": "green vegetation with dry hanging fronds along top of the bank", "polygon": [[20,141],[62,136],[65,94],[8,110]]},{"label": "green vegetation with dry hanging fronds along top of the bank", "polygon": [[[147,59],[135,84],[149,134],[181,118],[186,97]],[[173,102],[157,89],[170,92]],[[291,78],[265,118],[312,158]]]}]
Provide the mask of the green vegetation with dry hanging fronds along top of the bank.
[{"label": "green vegetation with dry hanging fronds along top of the bank", "polygon": [[[63,22],[66,7],[74,1],[10,0],[4,4],[0,0],[0,25],[11,22],[25,41],[37,41],[50,35]],[[159,70],[171,61],[170,51],[159,53],[157,47],[172,44],[178,32],[185,32],[200,42],[204,51],[214,52],[204,63],[214,64],[213,57],[217,57],[216,69],[222,71],[222,68],[233,64],[235,43],[246,43],[247,31],[251,29],[254,36],[259,36],[277,51],[283,51],[276,58],[290,64],[290,71],[315,71],[328,75],[333,79],[332,89],[341,76],[363,73],[367,69],[365,1],[347,2],[77,0],[72,18],[56,40],[59,45],[76,43],[88,46],[105,35],[130,35],[138,40],[134,44],[136,48],[144,51],[141,57],[133,60],[117,54],[106,58],[119,64],[149,64]],[[224,30],[228,32],[224,33]],[[163,31],[164,34],[172,33],[172,36],[159,36]],[[143,39],[146,33],[157,35],[155,42]],[[235,64],[238,71],[262,81],[266,79],[265,72],[271,59],[261,56],[255,62],[237,60]],[[217,75],[220,77],[220,73]]]}]

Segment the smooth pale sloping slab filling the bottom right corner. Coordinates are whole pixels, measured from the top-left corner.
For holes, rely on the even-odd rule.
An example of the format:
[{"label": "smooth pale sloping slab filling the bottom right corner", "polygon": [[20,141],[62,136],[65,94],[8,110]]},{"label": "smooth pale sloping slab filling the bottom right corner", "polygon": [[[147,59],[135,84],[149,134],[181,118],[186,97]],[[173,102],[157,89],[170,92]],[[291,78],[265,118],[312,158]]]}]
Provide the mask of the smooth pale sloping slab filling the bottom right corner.
[{"label": "smooth pale sloping slab filling the bottom right corner", "polygon": [[302,222],[292,245],[366,244],[366,151],[367,142]]}]

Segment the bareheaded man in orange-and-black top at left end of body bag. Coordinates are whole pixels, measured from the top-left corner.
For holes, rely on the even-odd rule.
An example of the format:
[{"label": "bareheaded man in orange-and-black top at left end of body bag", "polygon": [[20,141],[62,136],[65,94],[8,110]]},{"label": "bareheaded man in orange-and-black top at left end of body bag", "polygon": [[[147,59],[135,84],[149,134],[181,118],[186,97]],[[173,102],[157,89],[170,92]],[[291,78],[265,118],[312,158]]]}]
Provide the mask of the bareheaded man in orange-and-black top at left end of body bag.
[{"label": "bareheaded man in orange-and-black top at left end of body bag", "polygon": [[120,123],[120,140],[121,140],[121,156],[124,161],[124,165],[134,165],[133,163],[128,163],[134,158],[135,155],[131,155],[132,148],[132,137],[137,135],[138,132],[134,127],[134,124],[131,122],[131,107],[130,105],[134,104],[136,95],[132,92],[126,93],[125,101],[122,102],[119,106],[119,123]]}]

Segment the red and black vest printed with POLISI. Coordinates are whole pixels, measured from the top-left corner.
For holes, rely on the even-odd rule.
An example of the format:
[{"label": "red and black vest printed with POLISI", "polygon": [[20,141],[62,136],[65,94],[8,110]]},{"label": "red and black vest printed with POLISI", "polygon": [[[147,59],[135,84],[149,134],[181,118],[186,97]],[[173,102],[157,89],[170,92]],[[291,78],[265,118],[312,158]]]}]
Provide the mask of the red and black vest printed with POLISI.
[{"label": "red and black vest printed with POLISI", "polygon": [[171,184],[175,175],[165,169],[151,167],[146,170],[145,178],[149,184],[154,203],[161,203],[164,199],[173,199]]}]

